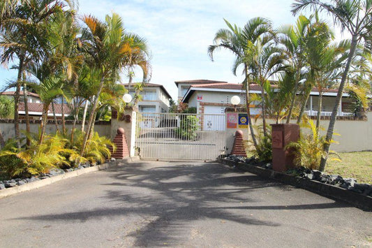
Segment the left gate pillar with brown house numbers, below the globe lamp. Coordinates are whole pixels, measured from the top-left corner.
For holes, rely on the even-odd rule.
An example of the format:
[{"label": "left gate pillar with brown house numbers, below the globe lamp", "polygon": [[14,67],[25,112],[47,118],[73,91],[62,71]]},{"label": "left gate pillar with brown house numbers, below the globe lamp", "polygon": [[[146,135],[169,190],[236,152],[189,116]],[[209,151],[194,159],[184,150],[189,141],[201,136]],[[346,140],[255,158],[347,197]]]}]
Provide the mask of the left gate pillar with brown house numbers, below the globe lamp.
[{"label": "left gate pillar with brown house numbers, below the globe lamp", "polygon": [[117,110],[112,110],[110,138],[114,140],[117,135],[117,129],[124,129],[124,135],[128,143],[129,156],[135,156],[135,126],[137,122],[137,113],[132,107],[124,110],[124,114],[118,118]]}]

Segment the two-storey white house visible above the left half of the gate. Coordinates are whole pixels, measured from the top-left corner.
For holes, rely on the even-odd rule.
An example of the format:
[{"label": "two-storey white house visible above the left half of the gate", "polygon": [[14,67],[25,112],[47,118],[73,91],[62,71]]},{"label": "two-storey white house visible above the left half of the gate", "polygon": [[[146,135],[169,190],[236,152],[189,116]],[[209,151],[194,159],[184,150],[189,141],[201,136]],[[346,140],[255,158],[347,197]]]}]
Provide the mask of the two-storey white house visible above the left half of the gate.
[{"label": "two-storey white house visible above the left half of the gate", "polygon": [[[123,86],[128,89],[128,84],[124,84]],[[135,89],[132,85],[129,87],[128,91],[132,96],[135,95]],[[140,92],[140,95],[142,96],[142,99],[137,103],[138,111],[168,112],[169,99],[172,97],[163,85],[147,83],[142,92]]]}]

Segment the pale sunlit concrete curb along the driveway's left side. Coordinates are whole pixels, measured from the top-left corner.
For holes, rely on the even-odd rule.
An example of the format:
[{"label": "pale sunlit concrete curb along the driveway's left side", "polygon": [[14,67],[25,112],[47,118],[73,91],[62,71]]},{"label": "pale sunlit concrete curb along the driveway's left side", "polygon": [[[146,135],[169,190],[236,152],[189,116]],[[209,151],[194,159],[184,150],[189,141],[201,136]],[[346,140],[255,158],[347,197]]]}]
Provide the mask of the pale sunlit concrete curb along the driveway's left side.
[{"label": "pale sunlit concrete curb along the driveway's left side", "polygon": [[91,166],[91,167],[84,168],[84,169],[81,169],[81,170],[74,170],[74,171],[71,171],[69,173],[64,173],[64,174],[61,174],[61,175],[55,175],[54,177],[48,177],[48,178],[45,178],[43,180],[29,182],[27,184],[23,184],[23,185],[16,186],[16,187],[13,187],[13,188],[1,189],[0,190],[0,199],[4,198],[4,197],[7,197],[7,196],[12,196],[14,194],[18,194],[18,193],[21,193],[21,192],[24,192],[24,191],[29,191],[31,189],[38,189],[40,187],[43,187],[43,186],[46,186],[46,185],[49,185],[49,184],[52,184],[54,182],[58,182],[58,181],[61,181],[61,180],[65,180],[65,179],[68,179],[70,177],[77,177],[79,175],[91,173],[91,172],[98,171],[98,170],[106,170],[108,168],[121,166],[124,163],[130,163],[130,162],[134,162],[134,161],[137,161],[137,160],[139,160],[139,158],[137,156],[129,157],[129,158],[126,158],[126,159],[117,159],[116,161],[103,163],[103,164],[100,164],[98,166]]}]

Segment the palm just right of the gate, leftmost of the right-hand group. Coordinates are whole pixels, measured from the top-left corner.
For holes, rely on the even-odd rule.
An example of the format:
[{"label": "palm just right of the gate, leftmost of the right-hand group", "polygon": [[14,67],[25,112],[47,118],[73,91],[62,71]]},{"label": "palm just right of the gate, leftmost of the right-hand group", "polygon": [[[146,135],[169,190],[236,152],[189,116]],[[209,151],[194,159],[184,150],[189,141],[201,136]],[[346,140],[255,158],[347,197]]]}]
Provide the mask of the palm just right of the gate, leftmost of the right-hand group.
[{"label": "palm just right of the gate, leftmost of the right-hand group", "polygon": [[213,61],[213,54],[216,50],[224,48],[231,51],[235,55],[235,64],[233,67],[233,73],[236,75],[237,68],[243,65],[244,68],[244,87],[246,89],[246,110],[248,115],[249,129],[253,140],[253,145],[257,147],[258,143],[255,138],[255,133],[252,126],[251,111],[249,108],[249,85],[250,77],[248,72],[248,64],[244,62],[248,50],[246,49],[248,44],[254,44],[258,41],[258,38],[264,39],[266,36],[271,36],[273,31],[271,28],[271,22],[262,17],[255,17],[249,20],[244,28],[241,29],[237,25],[232,26],[230,22],[225,20],[228,29],[220,29],[214,36],[214,45],[209,45],[208,54]]}]

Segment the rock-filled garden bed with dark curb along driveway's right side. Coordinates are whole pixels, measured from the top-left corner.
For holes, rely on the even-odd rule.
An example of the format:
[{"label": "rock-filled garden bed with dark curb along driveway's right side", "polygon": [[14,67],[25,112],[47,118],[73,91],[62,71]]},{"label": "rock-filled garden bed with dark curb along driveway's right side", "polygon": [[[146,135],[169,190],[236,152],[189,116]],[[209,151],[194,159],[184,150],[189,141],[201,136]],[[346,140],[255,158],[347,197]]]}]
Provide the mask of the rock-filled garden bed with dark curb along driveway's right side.
[{"label": "rock-filled garden bed with dark curb along driveway's right side", "polygon": [[261,177],[278,180],[328,198],[343,200],[363,210],[372,211],[372,185],[357,184],[356,180],[352,178],[325,175],[318,170],[304,170],[301,172],[302,169],[300,169],[299,171],[290,171],[297,175],[280,173],[271,169],[271,163],[257,163],[254,159],[246,159],[235,155],[218,161]]}]

